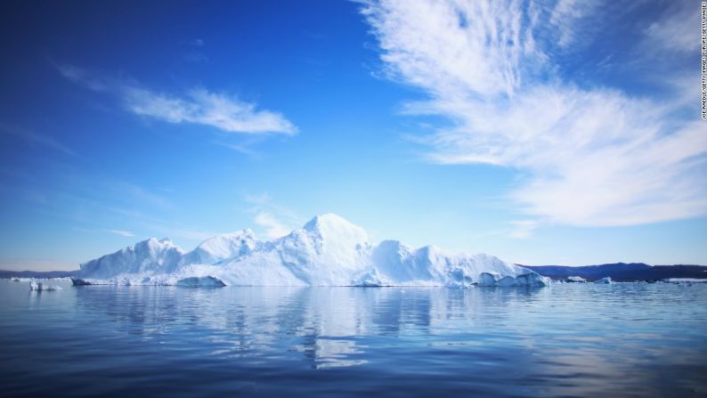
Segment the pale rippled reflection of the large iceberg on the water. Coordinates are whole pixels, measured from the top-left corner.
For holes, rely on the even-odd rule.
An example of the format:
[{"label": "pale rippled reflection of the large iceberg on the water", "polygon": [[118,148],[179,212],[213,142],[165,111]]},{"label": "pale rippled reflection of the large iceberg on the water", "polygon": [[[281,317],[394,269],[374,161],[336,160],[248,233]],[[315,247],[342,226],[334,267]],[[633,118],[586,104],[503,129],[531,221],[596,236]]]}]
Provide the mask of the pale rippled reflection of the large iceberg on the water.
[{"label": "pale rippled reflection of the large iceberg on the water", "polygon": [[[469,333],[541,289],[75,288],[80,311],[159,344],[207,341],[227,357],[290,357],[317,369],[366,363],[362,337]],[[452,333],[453,334],[453,333]],[[174,341],[177,337],[178,341]],[[426,341],[425,344],[439,342]],[[394,344],[394,341],[392,341]],[[291,359],[291,358],[290,358]]]}]

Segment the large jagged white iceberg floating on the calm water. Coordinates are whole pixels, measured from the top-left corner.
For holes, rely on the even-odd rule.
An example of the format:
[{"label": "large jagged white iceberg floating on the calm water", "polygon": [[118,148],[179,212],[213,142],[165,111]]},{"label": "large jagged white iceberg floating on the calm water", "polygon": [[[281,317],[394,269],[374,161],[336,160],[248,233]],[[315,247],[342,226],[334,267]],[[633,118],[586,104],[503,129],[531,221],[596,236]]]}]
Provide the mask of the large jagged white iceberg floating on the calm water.
[{"label": "large jagged white iceberg floating on the calm water", "polygon": [[484,254],[414,249],[396,240],[374,246],[361,227],[329,214],[276,240],[243,230],[190,252],[151,238],[81,264],[74,284],[471,287],[545,286],[549,280]]}]

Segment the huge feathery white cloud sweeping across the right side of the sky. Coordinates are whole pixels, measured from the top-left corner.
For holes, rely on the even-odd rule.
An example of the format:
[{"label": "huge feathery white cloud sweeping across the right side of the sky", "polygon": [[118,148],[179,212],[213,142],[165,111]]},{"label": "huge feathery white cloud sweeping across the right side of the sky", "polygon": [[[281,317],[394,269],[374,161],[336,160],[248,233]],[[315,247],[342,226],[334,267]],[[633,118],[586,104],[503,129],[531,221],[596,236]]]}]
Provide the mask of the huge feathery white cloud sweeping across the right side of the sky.
[{"label": "huge feathery white cloud sweeping across the right side of the sky", "polygon": [[[707,214],[707,128],[696,97],[695,106],[664,94],[638,97],[562,73],[560,47],[586,34],[563,18],[588,22],[596,12],[568,1],[362,6],[386,75],[427,93],[405,112],[450,121],[418,140],[428,158],[524,175],[509,197],[534,218],[519,222],[516,237],[542,223],[631,225]],[[561,25],[557,40],[540,40],[553,23]],[[684,37],[663,39],[681,45]],[[687,110],[694,115],[680,116]]]}]

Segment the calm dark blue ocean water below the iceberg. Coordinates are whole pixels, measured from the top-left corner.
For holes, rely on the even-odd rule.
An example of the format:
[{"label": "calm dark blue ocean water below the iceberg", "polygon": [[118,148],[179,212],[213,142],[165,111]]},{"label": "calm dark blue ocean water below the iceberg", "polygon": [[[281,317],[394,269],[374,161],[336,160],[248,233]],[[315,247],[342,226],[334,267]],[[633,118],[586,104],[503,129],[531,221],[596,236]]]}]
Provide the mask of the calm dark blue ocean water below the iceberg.
[{"label": "calm dark blue ocean water below the iceberg", "polygon": [[0,281],[3,396],[707,396],[707,284]]}]

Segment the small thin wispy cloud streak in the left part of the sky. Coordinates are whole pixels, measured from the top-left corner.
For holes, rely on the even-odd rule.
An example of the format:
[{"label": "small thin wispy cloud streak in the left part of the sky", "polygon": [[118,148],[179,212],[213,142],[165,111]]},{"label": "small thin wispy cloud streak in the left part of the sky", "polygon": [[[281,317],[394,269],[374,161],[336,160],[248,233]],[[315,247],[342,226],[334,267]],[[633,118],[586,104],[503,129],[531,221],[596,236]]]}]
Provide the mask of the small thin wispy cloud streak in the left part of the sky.
[{"label": "small thin wispy cloud streak in the left part of the sky", "polygon": [[126,110],[167,123],[192,123],[215,127],[226,133],[296,134],[297,127],[278,112],[258,110],[225,93],[194,88],[183,95],[160,93],[133,81],[98,77],[72,65],[57,65],[70,81],[102,93],[110,93]]}]

